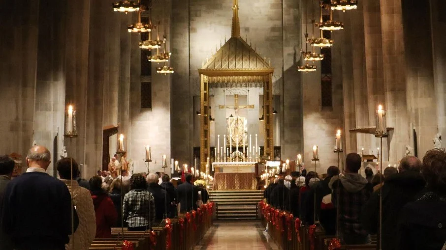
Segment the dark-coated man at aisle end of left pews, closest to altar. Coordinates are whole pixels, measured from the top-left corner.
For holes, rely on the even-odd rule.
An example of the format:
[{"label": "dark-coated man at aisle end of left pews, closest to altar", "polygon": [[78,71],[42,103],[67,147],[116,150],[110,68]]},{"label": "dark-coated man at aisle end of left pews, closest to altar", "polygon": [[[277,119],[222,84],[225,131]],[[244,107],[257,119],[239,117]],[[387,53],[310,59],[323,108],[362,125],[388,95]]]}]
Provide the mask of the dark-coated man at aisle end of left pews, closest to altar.
[{"label": "dark-coated man at aisle end of left pews, closest to altar", "polygon": [[180,203],[180,212],[189,212],[197,209],[198,187],[192,184],[192,174],[185,174],[186,182],[177,188],[177,200]]}]

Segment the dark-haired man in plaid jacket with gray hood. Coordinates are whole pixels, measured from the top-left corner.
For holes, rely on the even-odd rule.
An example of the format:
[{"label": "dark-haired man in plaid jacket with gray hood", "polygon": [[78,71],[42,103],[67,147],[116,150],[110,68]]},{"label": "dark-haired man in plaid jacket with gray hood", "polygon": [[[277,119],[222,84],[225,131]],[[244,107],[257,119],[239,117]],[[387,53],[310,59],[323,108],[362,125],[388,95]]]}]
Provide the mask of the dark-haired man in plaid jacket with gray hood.
[{"label": "dark-haired man in plaid jacket with gray hood", "polygon": [[332,190],[332,202],[339,213],[339,237],[344,244],[349,245],[371,243],[370,234],[362,227],[360,215],[362,207],[372,195],[373,187],[366,178],[358,174],[361,162],[360,155],[348,154],[346,174],[333,176],[328,184]]}]

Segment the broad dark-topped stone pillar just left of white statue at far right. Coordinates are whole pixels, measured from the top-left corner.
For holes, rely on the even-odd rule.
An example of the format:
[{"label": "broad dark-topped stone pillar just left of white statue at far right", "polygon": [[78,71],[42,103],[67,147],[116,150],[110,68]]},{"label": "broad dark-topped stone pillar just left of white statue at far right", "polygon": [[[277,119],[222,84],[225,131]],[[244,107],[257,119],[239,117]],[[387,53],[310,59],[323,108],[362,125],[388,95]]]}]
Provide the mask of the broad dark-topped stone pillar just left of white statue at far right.
[{"label": "broad dark-topped stone pillar just left of white statue at far right", "polygon": [[402,0],[402,9],[408,111],[422,158],[433,148],[438,124],[429,1]]}]

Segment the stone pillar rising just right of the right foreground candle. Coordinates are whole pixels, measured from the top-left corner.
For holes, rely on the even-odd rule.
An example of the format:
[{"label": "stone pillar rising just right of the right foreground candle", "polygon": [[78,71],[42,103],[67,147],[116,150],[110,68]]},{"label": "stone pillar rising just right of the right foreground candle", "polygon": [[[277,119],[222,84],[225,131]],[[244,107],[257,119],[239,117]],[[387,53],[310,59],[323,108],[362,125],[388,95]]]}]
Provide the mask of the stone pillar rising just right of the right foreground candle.
[{"label": "stone pillar rising just right of the right foreground candle", "polygon": [[[388,159],[397,162],[406,152],[410,124],[406,96],[406,61],[402,30],[401,0],[380,0],[382,31],[382,68],[384,76],[387,126],[393,127],[388,139]],[[384,161],[386,159],[385,152]]]}]

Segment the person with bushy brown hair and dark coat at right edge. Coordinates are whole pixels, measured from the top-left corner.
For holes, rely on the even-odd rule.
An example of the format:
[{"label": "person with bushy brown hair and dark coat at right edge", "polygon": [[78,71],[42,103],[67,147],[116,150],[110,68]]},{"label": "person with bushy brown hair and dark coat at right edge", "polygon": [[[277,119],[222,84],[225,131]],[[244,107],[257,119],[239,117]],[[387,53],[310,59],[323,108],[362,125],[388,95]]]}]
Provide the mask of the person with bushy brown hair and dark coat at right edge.
[{"label": "person with bushy brown hair and dark coat at right edge", "polygon": [[421,175],[427,192],[403,207],[398,222],[400,250],[446,249],[446,152],[426,152]]}]

